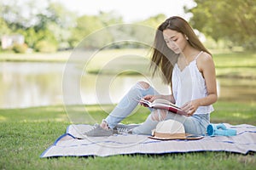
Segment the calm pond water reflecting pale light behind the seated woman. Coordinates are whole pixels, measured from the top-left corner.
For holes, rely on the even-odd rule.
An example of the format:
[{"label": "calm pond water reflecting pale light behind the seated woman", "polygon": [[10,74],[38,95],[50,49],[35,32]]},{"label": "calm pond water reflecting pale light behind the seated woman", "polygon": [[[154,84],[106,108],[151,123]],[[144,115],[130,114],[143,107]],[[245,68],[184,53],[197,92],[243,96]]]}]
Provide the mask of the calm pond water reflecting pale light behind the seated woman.
[{"label": "calm pond water reflecting pale light behind the seated woman", "polygon": [[[0,108],[23,108],[63,104],[113,104],[137,81],[148,81],[160,93],[170,93],[160,79],[145,76],[75,77],[63,88],[65,63],[2,62],[0,63]],[[67,88],[67,87],[66,87]],[[79,99],[73,92],[79,88]],[[256,101],[256,80],[218,79],[219,99]],[[69,100],[63,102],[63,96]]]}]

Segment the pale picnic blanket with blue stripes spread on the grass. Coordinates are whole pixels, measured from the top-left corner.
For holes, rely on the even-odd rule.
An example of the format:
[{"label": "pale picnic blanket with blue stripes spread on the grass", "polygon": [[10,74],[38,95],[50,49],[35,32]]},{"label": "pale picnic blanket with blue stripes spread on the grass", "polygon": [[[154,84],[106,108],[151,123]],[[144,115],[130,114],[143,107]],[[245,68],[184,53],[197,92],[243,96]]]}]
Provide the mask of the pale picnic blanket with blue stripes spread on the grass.
[{"label": "pale picnic blanket with blue stripes spread on the grass", "polygon": [[41,157],[58,156],[114,156],[125,154],[166,154],[197,151],[228,151],[247,154],[256,151],[256,127],[241,124],[236,136],[205,136],[199,140],[157,140],[147,135],[113,134],[109,137],[86,137],[82,135],[90,125],[69,125],[67,133],[56,139]]}]

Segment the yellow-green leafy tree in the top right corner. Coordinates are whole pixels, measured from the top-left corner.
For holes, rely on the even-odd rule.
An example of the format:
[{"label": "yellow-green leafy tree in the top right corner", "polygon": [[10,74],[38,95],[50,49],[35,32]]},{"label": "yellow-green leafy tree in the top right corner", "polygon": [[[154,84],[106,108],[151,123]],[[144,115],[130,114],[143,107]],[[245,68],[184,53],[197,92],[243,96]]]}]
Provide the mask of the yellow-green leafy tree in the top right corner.
[{"label": "yellow-green leafy tree in the top right corner", "polygon": [[226,40],[244,48],[256,47],[256,1],[194,0],[190,24],[214,40]]}]

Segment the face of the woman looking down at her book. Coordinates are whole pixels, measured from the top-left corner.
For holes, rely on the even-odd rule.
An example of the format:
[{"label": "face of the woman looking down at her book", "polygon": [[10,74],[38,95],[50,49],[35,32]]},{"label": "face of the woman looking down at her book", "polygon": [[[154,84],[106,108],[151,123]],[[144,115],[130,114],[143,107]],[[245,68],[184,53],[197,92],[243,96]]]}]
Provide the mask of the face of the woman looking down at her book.
[{"label": "face of the woman looking down at her book", "polygon": [[175,54],[180,54],[187,45],[187,39],[185,36],[171,29],[166,29],[163,31],[164,40],[168,48],[172,49]]}]

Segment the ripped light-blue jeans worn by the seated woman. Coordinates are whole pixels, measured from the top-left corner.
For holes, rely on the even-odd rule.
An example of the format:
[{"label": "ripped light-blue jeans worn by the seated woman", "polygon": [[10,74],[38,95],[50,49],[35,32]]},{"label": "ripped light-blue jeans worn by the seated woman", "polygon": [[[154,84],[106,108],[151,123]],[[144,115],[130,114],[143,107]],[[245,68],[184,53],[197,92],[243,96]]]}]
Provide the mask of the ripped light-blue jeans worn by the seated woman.
[{"label": "ripped light-blue jeans worn by the seated woman", "polygon": [[[108,122],[108,127],[113,128],[137,107],[138,100],[145,95],[158,95],[147,82],[137,82],[130,91],[120,100],[119,104],[104,120]],[[195,114],[193,116],[180,116],[170,111],[156,110],[148,108],[151,114],[145,122],[140,126],[132,129],[132,133],[136,134],[151,134],[151,131],[156,127],[158,122],[172,119],[183,123],[186,133],[202,135],[206,133],[207,125],[210,123],[210,114]]]}]

